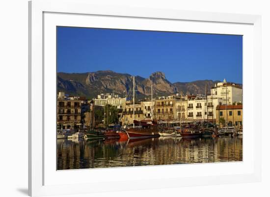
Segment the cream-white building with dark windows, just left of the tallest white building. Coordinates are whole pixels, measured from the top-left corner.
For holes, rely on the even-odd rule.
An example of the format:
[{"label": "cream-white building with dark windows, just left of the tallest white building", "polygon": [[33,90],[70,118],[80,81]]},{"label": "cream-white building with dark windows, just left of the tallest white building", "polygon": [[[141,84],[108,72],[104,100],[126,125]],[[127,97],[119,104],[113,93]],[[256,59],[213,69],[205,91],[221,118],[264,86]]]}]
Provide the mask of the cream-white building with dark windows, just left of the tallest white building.
[{"label": "cream-white building with dark windows, just left of the tallest white building", "polygon": [[[207,103],[206,103],[207,102]],[[216,106],[222,103],[222,98],[208,96],[189,97],[187,101],[187,121],[204,121],[216,122]]]}]

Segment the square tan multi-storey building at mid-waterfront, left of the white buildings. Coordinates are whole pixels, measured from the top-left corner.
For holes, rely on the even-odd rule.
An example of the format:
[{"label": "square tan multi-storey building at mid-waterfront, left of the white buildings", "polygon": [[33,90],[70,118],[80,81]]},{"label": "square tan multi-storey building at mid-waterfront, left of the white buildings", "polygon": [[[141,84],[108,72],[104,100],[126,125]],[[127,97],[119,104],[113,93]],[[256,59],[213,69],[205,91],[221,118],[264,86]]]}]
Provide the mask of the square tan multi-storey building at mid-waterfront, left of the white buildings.
[{"label": "square tan multi-storey building at mid-waterfront, left of the white buildings", "polygon": [[173,120],[175,117],[175,96],[156,98],[154,114],[157,120]]}]

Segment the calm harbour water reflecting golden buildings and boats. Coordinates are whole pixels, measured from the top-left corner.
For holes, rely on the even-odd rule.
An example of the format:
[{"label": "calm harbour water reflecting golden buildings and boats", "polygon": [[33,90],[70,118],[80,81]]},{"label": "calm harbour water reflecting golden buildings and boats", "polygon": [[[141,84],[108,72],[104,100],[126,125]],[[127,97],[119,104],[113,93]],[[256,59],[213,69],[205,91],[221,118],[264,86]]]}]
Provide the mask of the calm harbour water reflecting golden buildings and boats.
[{"label": "calm harbour water reflecting golden buildings and boats", "polygon": [[57,140],[57,170],[242,160],[242,136]]}]

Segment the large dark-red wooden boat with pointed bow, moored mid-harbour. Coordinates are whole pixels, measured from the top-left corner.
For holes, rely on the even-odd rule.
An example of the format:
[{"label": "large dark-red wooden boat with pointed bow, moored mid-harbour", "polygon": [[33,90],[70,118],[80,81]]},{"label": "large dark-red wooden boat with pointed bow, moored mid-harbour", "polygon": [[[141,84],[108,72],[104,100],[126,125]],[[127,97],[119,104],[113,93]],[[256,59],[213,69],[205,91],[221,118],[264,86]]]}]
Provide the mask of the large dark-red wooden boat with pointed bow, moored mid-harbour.
[{"label": "large dark-red wooden boat with pointed bow, moored mid-harbour", "polygon": [[135,126],[126,129],[128,137],[133,138],[152,138],[160,137],[159,126],[155,121],[134,121]]}]

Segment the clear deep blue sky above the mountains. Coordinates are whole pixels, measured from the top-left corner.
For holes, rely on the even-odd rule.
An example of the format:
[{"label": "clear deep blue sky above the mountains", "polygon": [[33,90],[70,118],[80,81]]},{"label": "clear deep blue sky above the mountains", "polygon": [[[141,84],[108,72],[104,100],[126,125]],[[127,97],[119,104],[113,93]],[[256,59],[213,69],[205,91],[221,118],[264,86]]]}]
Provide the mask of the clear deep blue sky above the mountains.
[{"label": "clear deep blue sky above the mountains", "polygon": [[174,83],[212,79],[242,83],[241,35],[57,27],[57,72],[111,70]]}]

